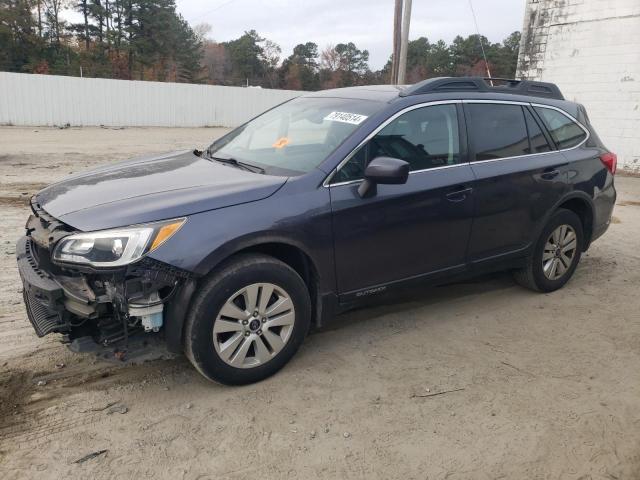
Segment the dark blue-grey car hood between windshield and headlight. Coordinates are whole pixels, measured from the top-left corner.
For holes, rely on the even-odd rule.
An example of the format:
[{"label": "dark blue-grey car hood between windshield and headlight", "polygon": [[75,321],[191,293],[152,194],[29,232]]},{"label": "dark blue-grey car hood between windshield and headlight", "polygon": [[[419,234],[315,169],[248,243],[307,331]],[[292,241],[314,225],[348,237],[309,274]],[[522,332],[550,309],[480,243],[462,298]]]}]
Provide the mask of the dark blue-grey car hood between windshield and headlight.
[{"label": "dark blue-grey car hood between windshield and headlight", "polygon": [[191,151],[143,157],[67,177],[36,194],[47,213],[80,230],[99,230],[254,202],[286,177],[261,175]]}]

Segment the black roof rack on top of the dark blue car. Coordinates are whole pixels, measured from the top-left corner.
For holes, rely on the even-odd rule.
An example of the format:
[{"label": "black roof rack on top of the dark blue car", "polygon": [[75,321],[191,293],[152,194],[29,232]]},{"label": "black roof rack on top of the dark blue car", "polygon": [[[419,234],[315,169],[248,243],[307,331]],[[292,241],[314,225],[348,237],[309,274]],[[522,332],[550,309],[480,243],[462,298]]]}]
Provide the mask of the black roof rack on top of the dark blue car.
[{"label": "black roof rack on top of the dark blue car", "polygon": [[438,77],[405,88],[400,96],[442,92],[491,92],[564,100],[555,83],[489,77]]}]

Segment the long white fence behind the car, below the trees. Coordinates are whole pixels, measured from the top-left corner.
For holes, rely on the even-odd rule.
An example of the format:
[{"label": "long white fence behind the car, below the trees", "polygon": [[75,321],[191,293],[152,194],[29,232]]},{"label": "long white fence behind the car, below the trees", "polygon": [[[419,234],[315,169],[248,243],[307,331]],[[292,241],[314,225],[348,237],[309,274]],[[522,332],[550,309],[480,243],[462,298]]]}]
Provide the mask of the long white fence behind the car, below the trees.
[{"label": "long white fence behind the car, below the trees", "polygon": [[300,94],[0,72],[0,125],[234,127]]}]

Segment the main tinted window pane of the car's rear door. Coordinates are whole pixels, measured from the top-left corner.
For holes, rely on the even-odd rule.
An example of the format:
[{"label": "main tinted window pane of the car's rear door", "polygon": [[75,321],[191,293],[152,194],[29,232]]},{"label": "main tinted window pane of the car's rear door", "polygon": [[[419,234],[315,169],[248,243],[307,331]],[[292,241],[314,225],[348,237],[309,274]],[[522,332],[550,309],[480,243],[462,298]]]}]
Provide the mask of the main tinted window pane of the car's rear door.
[{"label": "main tinted window pane of the car's rear door", "polygon": [[529,154],[529,135],[520,105],[470,103],[465,109],[476,161]]}]

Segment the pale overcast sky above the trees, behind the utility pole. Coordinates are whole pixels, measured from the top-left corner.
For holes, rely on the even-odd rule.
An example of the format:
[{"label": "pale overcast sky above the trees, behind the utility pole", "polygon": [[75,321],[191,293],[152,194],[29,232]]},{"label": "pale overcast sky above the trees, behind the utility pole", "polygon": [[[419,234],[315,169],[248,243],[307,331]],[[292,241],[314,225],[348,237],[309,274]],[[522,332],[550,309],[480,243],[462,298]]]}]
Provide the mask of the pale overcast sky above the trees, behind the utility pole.
[{"label": "pale overcast sky above the trees, behind the utility pole", "polygon": [[[480,33],[492,42],[522,29],[525,0],[473,0]],[[177,0],[191,25],[209,23],[210,38],[223,42],[256,30],[282,47],[283,58],[298,43],[354,42],[369,50],[369,65],[381,68],[391,54],[394,0]],[[469,0],[413,0],[409,38],[447,43],[475,33]]]}]

